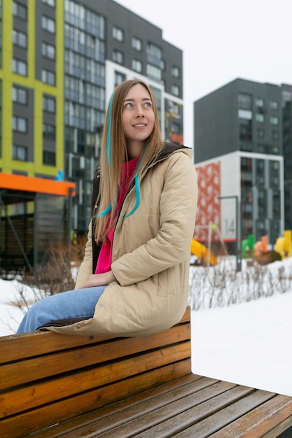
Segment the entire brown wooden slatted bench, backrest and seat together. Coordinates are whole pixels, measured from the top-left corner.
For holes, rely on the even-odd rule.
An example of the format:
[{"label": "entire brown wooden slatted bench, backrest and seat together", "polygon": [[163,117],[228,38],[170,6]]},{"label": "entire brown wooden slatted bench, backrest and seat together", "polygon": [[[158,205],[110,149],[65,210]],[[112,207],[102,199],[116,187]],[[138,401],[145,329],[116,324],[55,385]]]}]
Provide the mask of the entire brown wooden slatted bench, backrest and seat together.
[{"label": "entire brown wooden slatted bench, backrest and seat together", "polygon": [[256,438],[292,426],[292,397],[192,374],[189,308],[151,337],[0,344],[1,438]]}]

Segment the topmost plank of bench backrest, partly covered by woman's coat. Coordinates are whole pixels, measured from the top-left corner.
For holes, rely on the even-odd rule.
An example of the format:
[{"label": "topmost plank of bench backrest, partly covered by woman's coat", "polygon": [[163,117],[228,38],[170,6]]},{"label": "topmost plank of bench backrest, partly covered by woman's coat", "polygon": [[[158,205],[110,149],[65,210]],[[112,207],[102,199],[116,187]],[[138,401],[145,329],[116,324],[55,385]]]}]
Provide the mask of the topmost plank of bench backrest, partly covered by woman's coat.
[{"label": "topmost plank of bench backrest, partly covered by woman's coat", "polygon": [[[190,323],[190,306],[187,307],[179,324],[184,323]],[[165,332],[167,332],[167,330],[165,330]],[[10,336],[0,337],[0,364],[23,358],[31,358],[32,355],[55,353],[56,351],[63,351],[77,346],[96,344],[98,342],[109,341],[109,339],[113,339],[113,337],[76,336],[49,332],[12,334]],[[141,339],[141,343],[143,344],[146,337],[139,339]]]}]

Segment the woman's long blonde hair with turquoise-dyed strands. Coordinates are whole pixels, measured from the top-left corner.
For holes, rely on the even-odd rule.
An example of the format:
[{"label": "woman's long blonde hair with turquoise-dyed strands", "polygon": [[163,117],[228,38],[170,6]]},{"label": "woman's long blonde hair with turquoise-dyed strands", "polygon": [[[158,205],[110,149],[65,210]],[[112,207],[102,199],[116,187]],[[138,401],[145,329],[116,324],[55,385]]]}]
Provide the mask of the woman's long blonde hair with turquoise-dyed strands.
[{"label": "woman's long blonde hair with turquoise-dyed strands", "polygon": [[[104,242],[107,232],[115,226],[116,205],[118,190],[120,188],[120,174],[123,163],[127,161],[127,145],[122,125],[123,103],[125,97],[133,85],[143,85],[150,94],[153,112],[154,127],[151,135],[144,143],[144,153],[140,157],[137,172],[133,179],[136,185],[136,206],[139,204],[139,179],[149,162],[158,157],[163,148],[160,131],[158,109],[151,87],[141,80],[126,80],[116,87],[111,96],[106,111],[104,129],[102,132],[100,152],[100,185],[97,204],[99,205],[95,222],[95,239]],[[134,210],[130,213],[132,214]],[[130,215],[129,215],[130,216]]]}]

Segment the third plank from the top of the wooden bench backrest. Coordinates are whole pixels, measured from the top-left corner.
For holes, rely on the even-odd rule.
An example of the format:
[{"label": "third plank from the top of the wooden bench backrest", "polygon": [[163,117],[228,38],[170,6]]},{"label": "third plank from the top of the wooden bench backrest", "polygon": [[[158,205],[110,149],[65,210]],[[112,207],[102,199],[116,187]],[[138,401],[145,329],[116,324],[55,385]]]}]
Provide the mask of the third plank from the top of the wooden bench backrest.
[{"label": "third plank from the top of the wooden bench backrest", "polygon": [[20,386],[14,391],[1,394],[0,418],[21,412],[24,406],[25,409],[32,409],[185,358],[190,358],[189,341],[65,376],[32,382],[29,386]]}]

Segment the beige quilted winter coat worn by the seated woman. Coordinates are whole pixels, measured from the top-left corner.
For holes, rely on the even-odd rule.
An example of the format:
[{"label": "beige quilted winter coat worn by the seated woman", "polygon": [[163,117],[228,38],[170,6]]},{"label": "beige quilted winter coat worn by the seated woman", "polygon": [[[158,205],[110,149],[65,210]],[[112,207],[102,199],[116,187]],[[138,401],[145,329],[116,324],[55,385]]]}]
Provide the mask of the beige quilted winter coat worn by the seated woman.
[{"label": "beige quilted winter coat worn by the seated woman", "polygon": [[[142,176],[141,202],[128,218],[134,188],[125,197],[113,237],[111,269],[117,281],[104,290],[93,318],[48,330],[130,337],[160,332],[179,322],[188,303],[197,176],[192,150],[173,149]],[[91,224],[76,288],[90,274]]]}]

